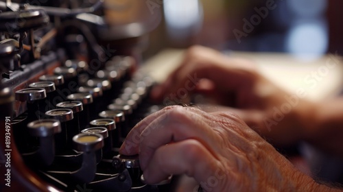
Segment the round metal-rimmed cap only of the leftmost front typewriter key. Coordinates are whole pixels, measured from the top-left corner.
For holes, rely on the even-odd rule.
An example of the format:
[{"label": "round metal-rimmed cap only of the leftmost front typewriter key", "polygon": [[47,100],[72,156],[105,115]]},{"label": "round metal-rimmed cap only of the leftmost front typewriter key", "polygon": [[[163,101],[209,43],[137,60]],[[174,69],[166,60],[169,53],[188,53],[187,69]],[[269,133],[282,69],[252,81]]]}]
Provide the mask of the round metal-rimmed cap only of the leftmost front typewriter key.
[{"label": "round metal-rimmed cap only of the leftmost front typewriter key", "polygon": [[60,121],[56,119],[40,119],[27,124],[32,136],[45,137],[61,132]]}]

